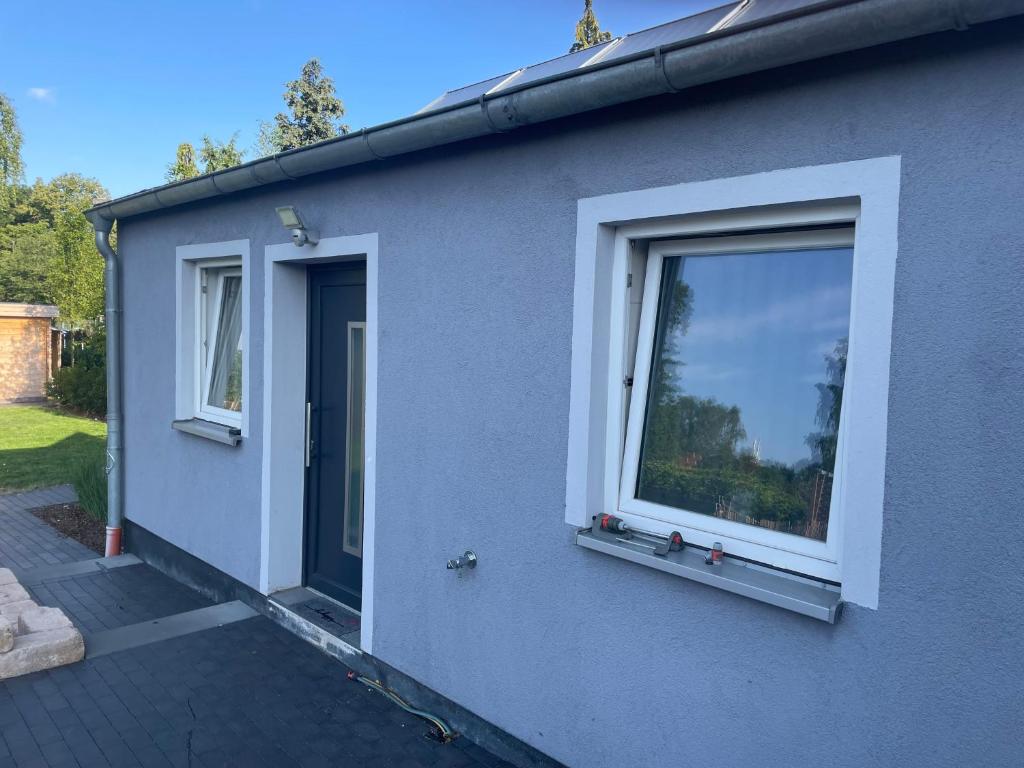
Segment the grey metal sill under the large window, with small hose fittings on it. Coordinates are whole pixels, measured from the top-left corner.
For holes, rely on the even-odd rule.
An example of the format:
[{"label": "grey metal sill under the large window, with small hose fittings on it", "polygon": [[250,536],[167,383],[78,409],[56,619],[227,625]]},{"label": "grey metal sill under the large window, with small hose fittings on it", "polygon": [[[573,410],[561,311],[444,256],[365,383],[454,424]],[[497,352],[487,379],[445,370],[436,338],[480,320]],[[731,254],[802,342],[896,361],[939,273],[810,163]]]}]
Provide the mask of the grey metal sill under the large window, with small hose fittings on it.
[{"label": "grey metal sill under the large window, with small hose fittings on it", "polygon": [[842,612],[839,592],[729,558],[720,565],[709,565],[705,562],[703,551],[693,547],[684,546],[667,555],[655,555],[653,547],[637,540],[591,528],[577,532],[577,544],[828,624],[836,624]]}]

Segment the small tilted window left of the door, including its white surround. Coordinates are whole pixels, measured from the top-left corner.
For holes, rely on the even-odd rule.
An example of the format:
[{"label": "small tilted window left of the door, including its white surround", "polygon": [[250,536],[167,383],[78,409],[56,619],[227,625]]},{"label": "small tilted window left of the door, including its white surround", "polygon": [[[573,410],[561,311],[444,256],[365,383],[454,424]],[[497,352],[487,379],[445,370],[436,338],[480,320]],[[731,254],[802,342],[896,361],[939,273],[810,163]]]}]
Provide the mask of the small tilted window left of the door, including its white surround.
[{"label": "small tilted window left of the door, including its white surround", "polygon": [[176,252],[175,426],[234,442],[248,431],[249,241]]}]

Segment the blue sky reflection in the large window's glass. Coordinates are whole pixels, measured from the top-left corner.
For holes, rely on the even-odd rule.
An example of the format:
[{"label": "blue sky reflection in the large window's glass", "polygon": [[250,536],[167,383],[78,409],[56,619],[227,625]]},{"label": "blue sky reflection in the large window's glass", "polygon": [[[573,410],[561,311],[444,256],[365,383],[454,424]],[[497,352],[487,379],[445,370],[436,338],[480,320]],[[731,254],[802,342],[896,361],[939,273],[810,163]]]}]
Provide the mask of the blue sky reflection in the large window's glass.
[{"label": "blue sky reflection in the large window's glass", "polygon": [[686,257],[692,290],[685,336],[670,341],[683,392],[738,406],[762,461],[811,458],[825,355],[850,322],[853,250]]}]

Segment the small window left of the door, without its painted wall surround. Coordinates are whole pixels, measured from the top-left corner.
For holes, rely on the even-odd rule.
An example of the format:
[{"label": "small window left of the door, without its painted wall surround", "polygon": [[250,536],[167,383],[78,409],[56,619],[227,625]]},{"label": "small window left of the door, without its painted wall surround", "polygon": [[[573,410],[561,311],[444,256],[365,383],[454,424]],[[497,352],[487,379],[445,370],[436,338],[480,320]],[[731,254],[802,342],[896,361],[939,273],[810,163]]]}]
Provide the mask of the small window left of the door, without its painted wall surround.
[{"label": "small window left of the door, without its painted wall surround", "polygon": [[241,428],[245,378],[241,261],[201,264],[197,290],[196,416]]}]

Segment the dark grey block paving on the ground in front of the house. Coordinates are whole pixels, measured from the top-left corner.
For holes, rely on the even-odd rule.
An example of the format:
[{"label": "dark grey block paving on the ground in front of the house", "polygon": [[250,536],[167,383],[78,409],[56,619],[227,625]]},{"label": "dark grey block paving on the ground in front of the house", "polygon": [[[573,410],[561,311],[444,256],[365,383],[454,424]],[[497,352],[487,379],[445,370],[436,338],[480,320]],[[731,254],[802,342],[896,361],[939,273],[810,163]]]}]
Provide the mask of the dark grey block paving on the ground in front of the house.
[{"label": "dark grey block paving on the ground in front of the house", "polygon": [[[264,616],[139,642],[148,627],[230,604],[212,607],[130,558],[104,569],[60,565],[74,548],[25,511],[40,498],[0,497],[0,566],[32,569],[27,588],[68,612],[87,657],[0,682],[0,768],[508,767],[467,739],[428,739],[423,721]],[[95,557],[81,549],[79,560]],[[54,578],[42,578],[47,569]]]}]

